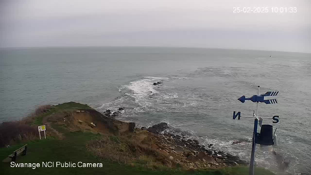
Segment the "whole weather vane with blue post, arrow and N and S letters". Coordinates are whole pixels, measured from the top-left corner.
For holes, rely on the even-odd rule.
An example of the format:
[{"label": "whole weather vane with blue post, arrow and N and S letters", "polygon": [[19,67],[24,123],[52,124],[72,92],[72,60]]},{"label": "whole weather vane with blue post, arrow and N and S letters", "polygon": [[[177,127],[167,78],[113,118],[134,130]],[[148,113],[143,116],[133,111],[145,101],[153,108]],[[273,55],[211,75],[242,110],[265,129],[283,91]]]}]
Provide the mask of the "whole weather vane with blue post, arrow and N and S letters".
[{"label": "whole weather vane with blue post, arrow and N and S letters", "polygon": [[[279,116],[259,117],[259,115],[258,115],[259,102],[265,103],[265,104],[277,104],[276,98],[277,98],[277,94],[278,94],[279,91],[271,91],[271,92],[266,92],[265,94],[259,95],[260,94],[259,88],[260,87],[258,86],[258,94],[257,95],[253,95],[250,98],[245,98],[245,96],[243,95],[242,97],[240,97],[238,99],[242,103],[244,103],[245,100],[249,100],[249,101],[252,101],[254,103],[257,103],[256,114],[255,114],[255,111],[254,111],[253,116],[241,116],[241,112],[237,112],[237,113],[236,113],[236,111],[233,112],[233,119],[236,119],[237,117],[238,117],[238,120],[240,120],[241,117],[255,118],[253,139],[252,139],[252,153],[251,153],[251,160],[250,160],[250,165],[249,165],[249,175],[255,175],[255,171],[254,171],[255,168],[254,167],[255,167],[256,143],[263,144],[263,145],[271,145],[271,143],[266,144],[266,143],[263,143],[263,142],[260,141],[262,138],[265,138],[267,136],[264,136],[264,135],[260,136],[260,134],[257,133],[258,124],[259,124],[259,126],[261,126],[263,118],[273,119],[274,120],[273,123],[278,123],[279,122],[279,120],[278,120]],[[272,125],[271,125],[271,127],[272,127]],[[261,128],[261,131],[262,131],[262,128]],[[274,143],[272,143],[272,144],[276,145],[276,135],[275,135]]]}]

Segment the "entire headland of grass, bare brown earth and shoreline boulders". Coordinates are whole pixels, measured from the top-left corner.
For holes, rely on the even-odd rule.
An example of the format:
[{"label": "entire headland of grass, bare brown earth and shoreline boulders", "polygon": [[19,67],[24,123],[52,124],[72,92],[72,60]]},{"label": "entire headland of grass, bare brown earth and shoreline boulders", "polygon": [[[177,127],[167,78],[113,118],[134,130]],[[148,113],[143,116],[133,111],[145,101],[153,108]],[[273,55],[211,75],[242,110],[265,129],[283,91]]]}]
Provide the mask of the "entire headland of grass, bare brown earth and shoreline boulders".
[{"label": "entire headland of grass, bare brown earth and shoreline boulders", "polygon": [[[27,142],[30,154],[25,156],[26,159],[23,161],[26,161],[27,157],[28,161],[33,162],[51,161],[51,157],[55,161],[87,159],[98,163],[109,160],[120,165],[125,164],[126,167],[143,167],[153,170],[164,168],[165,171],[167,171],[166,168],[173,168],[174,171],[187,169],[211,171],[224,167],[241,169],[241,166],[237,165],[247,164],[238,156],[206,148],[197,140],[188,140],[168,132],[163,133],[169,127],[166,123],[160,123],[148,129],[136,128],[135,123],[118,121],[87,105],[74,102],[45,106],[26,119],[15,123],[27,125],[33,129],[37,125],[45,124],[47,140],[38,140],[38,135],[35,134],[30,139],[34,141],[29,142],[27,138],[30,137],[27,131],[20,131],[23,134],[11,135],[9,141],[6,142],[2,140],[7,148],[0,148],[1,158],[16,149],[18,145]],[[7,124],[14,125],[14,122],[2,123],[0,129]],[[1,135],[7,135],[10,132],[2,131],[4,132]],[[95,159],[89,159],[89,156]],[[1,166],[6,169],[7,165]],[[227,168],[220,169],[220,172],[227,170]]]}]

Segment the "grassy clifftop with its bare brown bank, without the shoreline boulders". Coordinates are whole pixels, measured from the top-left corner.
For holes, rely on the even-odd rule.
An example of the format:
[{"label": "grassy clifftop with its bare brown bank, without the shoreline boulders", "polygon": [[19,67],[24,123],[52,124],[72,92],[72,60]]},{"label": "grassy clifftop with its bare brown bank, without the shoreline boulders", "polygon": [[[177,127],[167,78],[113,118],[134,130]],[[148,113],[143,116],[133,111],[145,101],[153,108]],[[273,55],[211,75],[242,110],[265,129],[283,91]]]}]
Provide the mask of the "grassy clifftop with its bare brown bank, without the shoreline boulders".
[{"label": "grassy clifftop with its bare brown bank, without the shoreline boulders", "polygon": [[[28,144],[26,156],[17,157],[17,163],[40,163],[39,168],[12,168],[10,163],[0,163],[1,171],[6,175],[247,175],[248,168],[243,166],[224,168],[185,168],[162,154],[154,147],[157,137],[147,131],[135,132],[133,124],[108,118],[87,105],[65,103],[45,106],[35,111],[27,119],[11,124],[27,125],[24,132],[36,129],[38,124],[47,125],[47,139],[39,140],[36,133],[25,137],[25,133],[9,140],[10,147],[0,148],[3,160],[14,150]],[[93,123],[93,124],[91,124]],[[5,128],[2,123],[0,128]],[[17,128],[19,127],[17,126]],[[1,135],[5,131],[1,130]],[[19,130],[23,133],[23,130]],[[18,135],[18,134],[17,134]],[[2,136],[1,136],[2,137]],[[18,138],[19,139],[16,139]],[[3,138],[3,137],[2,137]],[[14,139],[15,138],[15,139]],[[22,139],[21,139],[22,138]],[[5,140],[4,140],[5,141]],[[163,151],[163,150],[162,150]],[[101,168],[43,168],[42,162],[102,163]],[[258,168],[257,175],[273,175]]]}]

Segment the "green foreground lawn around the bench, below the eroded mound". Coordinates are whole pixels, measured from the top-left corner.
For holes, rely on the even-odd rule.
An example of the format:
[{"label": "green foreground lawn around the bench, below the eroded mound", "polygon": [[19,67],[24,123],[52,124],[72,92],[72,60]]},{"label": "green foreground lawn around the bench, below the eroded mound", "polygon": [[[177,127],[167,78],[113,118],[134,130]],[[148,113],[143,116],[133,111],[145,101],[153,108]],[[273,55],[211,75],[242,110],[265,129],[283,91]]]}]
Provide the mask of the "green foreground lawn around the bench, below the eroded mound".
[{"label": "green foreground lawn around the bench, below the eroded mound", "polygon": [[[143,166],[144,162],[135,166],[119,164],[109,160],[95,157],[86,151],[86,143],[89,140],[101,138],[99,134],[87,132],[66,132],[66,139],[57,140],[48,138],[46,140],[35,140],[28,142],[28,152],[26,156],[17,157],[17,163],[40,163],[46,161],[84,163],[103,163],[103,168],[11,168],[9,163],[0,163],[3,175],[247,175],[247,167],[232,167],[219,170],[189,170],[170,169],[159,167],[158,169],[148,169]],[[113,138],[116,139],[116,138]],[[14,145],[10,148],[0,148],[0,159],[4,159],[14,150],[23,144]],[[257,175],[274,175],[264,170],[256,169]]]}]

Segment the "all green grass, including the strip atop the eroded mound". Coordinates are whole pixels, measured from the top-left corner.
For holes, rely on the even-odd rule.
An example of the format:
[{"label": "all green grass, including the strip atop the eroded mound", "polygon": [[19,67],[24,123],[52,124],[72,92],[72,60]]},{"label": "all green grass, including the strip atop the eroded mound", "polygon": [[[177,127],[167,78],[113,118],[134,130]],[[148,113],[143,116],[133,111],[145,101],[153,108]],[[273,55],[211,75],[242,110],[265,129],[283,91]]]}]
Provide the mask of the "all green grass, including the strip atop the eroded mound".
[{"label": "all green grass, including the strip atop the eroded mound", "polygon": [[[49,106],[48,110],[35,115],[35,123],[42,123],[45,116],[63,110],[83,110],[90,109],[87,105],[76,103],[65,103],[62,105]],[[39,114],[39,113],[38,113]],[[0,162],[2,175],[248,175],[247,167],[227,167],[221,169],[207,170],[183,170],[181,168],[169,168],[166,166],[146,166],[153,164],[150,157],[141,156],[138,161],[133,163],[121,163],[112,161],[108,158],[100,158],[94,152],[87,150],[87,145],[94,140],[113,141],[122,143],[117,136],[107,136],[90,132],[76,131],[70,132],[66,125],[51,123],[52,128],[61,133],[63,140],[57,137],[48,137],[43,140],[28,140],[17,143],[9,148],[0,148],[0,160],[12,154],[17,148],[25,143],[28,144],[26,156],[18,156],[17,163],[39,163],[39,168],[12,168],[8,162]],[[121,149],[117,148],[117,149]],[[102,148],[103,149],[103,148]],[[126,150],[126,148],[122,148]],[[54,162],[53,168],[43,168],[42,162]],[[72,163],[103,163],[102,168],[61,168],[55,167],[56,162]],[[274,175],[272,172],[256,168],[256,175]]]}]

